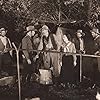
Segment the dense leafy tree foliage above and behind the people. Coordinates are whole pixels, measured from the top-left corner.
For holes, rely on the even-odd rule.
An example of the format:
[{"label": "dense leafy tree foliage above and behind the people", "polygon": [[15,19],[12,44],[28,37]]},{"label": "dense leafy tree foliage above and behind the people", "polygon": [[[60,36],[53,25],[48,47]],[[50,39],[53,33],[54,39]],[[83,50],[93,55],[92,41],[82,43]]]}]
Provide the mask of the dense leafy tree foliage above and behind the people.
[{"label": "dense leafy tree foliage above and behind the people", "polygon": [[37,22],[75,21],[76,26],[95,27],[100,19],[99,4],[99,0],[0,0],[0,27],[8,29],[12,41],[21,40],[25,27]]}]

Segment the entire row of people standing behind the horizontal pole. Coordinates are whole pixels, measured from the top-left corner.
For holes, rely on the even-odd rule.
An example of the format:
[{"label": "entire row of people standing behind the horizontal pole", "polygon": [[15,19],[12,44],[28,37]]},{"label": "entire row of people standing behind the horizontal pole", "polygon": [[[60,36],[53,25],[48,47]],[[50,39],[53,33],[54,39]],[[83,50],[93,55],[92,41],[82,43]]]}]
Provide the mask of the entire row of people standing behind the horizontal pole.
[{"label": "entire row of people standing behind the horizontal pole", "polygon": [[[5,59],[9,60],[12,56],[12,44],[6,33],[5,28],[0,29],[0,70],[7,62]],[[95,28],[91,33],[97,46],[95,54],[100,54],[99,31]],[[70,34],[64,34],[61,27],[57,28],[56,33],[51,33],[47,25],[43,25],[39,30],[34,26],[26,27],[26,35],[21,43],[24,75],[28,74],[30,78],[33,73],[39,74],[39,69],[46,69],[52,71],[54,83],[73,84],[79,81],[80,57],[75,53],[86,53],[84,36],[85,33],[81,29],[78,29],[72,38]],[[99,60],[100,58],[100,70]]]}]

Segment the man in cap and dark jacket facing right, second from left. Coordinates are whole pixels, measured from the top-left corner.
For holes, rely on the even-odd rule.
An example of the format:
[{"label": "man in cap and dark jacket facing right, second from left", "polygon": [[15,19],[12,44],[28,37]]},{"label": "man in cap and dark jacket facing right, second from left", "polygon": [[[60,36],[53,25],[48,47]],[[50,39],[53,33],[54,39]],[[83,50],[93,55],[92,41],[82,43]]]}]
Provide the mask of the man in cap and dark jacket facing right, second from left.
[{"label": "man in cap and dark jacket facing right, second from left", "polygon": [[[26,35],[22,39],[22,49],[23,49],[23,58],[24,58],[24,75],[25,77],[28,75],[28,80],[30,81],[31,74],[35,73],[35,63],[33,62],[33,43],[32,37],[35,35],[35,28],[34,26],[26,27]],[[26,80],[25,80],[26,81]]]}]

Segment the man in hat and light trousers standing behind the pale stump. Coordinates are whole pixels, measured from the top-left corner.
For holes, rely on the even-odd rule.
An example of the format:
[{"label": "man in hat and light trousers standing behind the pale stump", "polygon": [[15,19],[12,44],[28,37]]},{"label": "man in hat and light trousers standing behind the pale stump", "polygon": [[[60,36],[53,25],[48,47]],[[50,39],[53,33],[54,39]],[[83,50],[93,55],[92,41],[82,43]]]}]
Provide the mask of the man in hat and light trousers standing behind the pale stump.
[{"label": "man in hat and light trousers standing behind the pale stump", "polygon": [[[43,25],[41,28],[41,40],[38,46],[38,50],[57,50],[57,38],[55,34],[50,34],[49,27]],[[55,78],[59,77],[59,68],[58,68],[58,54],[51,52],[43,53],[43,65],[44,69],[52,69],[53,76]]]}]

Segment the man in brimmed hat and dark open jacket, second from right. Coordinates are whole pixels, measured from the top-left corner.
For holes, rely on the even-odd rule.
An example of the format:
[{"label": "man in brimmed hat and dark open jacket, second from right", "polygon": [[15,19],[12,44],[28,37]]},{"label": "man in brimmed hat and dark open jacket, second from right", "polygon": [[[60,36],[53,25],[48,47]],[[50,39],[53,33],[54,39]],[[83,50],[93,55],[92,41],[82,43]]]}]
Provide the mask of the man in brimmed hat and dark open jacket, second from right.
[{"label": "man in brimmed hat and dark open jacket, second from right", "polygon": [[[85,36],[85,33],[81,29],[78,29],[75,33],[75,37],[73,38],[73,43],[75,44],[76,53],[85,53],[85,44],[83,37]],[[77,82],[79,82],[79,76],[80,76],[80,57],[77,56],[77,65],[75,67],[75,79]]]}]

